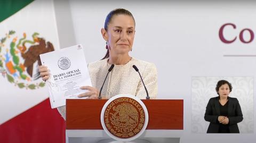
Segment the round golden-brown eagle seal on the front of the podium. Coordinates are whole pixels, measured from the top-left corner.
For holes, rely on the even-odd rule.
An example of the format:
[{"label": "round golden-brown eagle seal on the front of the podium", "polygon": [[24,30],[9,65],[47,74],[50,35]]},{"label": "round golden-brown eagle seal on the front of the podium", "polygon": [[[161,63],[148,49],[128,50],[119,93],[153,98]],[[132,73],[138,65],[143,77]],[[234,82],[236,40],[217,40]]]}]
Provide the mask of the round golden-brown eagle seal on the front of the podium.
[{"label": "round golden-brown eagle seal on the front of the podium", "polygon": [[107,130],[118,138],[131,138],[137,135],[145,124],[145,112],[134,99],[120,97],[111,102],[104,113]]}]

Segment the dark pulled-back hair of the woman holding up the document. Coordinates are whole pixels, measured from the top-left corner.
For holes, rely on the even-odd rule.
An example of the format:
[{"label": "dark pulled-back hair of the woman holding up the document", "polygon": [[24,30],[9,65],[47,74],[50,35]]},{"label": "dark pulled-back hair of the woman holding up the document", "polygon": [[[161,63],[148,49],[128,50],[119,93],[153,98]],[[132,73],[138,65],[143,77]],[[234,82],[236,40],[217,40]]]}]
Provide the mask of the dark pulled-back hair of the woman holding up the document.
[{"label": "dark pulled-back hair of the woman holding up the document", "polygon": [[[133,18],[133,15],[130,11],[127,11],[125,9],[115,9],[113,11],[110,11],[106,17],[106,20],[105,20],[105,24],[104,24],[104,29],[106,31],[108,31],[108,25],[109,23],[111,22],[113,16],[115,15],[119,15],[119,14],[124,14],[124,15],[129,15],[132,17],[133,21],[134,21],[134,24],[135,24],[135,19]],[[101,59],[101,60],[104,60],[105,58],[108,58],[109,57],[109,49],[107,49],[107,53],[106,55]]]}]

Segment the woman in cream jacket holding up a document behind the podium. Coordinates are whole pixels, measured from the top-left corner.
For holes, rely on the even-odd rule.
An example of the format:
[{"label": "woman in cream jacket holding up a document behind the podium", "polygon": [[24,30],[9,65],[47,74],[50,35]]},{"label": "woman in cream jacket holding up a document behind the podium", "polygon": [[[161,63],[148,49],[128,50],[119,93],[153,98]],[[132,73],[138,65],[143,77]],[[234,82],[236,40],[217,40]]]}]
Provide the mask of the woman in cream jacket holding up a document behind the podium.
[{"label": "woman in cream jacket holding up a document behind the podium", "polygon": [[[107,53],[100,61],[88,65],[92,87],[84,86],[81,89],[89,90],[78,97],[98,99],[99,91],[106,78],[108,70],[114,64],[109,73],[101,95],[110,98],[118,94],[131,94],[141,99],[146,98],[146,90],[140,79],[140,75],[133,69],[136,65],[141,77],[148,89],[150,99],[157,95],[157,70],[153,63],[138,60],[131,57],[133,40],[135,36],[135,20],[131,12],[125,9],[111,11],[105,20],[101,35],[106,41]],[[50,74],[46,66],[39,66],[39,72],[44,81],[49,79]],[[66,107],[58,108],[62,117],[66,119]]]}]

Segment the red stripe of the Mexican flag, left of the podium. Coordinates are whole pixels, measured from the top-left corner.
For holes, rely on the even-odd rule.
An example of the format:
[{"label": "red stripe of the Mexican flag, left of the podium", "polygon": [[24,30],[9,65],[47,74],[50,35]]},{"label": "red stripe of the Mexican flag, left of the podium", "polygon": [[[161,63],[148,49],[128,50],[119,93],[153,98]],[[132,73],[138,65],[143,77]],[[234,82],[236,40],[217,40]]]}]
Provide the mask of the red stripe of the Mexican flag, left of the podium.
[{"label": "red stripe of the Mexican flag, left of the podium", "polygon": [[65,129],[65,121],[56,108],[51,108],[48,98],[1,124],[0,142],[63,143]]}]

